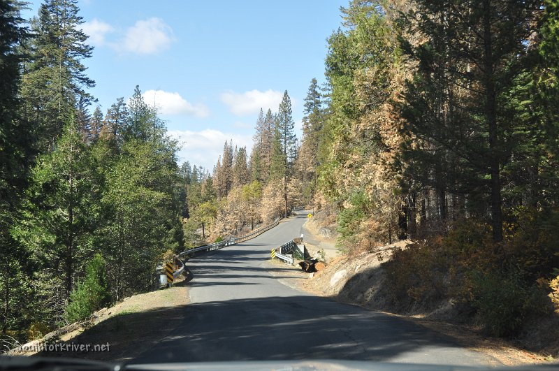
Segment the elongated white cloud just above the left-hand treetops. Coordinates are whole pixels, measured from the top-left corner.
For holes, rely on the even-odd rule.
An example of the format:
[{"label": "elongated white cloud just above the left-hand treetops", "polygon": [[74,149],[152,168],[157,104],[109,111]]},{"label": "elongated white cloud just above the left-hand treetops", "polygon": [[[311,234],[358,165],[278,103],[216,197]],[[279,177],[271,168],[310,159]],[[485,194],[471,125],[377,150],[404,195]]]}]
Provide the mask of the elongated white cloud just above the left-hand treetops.
[{"label": "elongated white cloud just above the left-hand treetops", "polygon": [[180,94],[165,92],[164,90],[146,90],[143,94],[144,101],[157,108],[163,115],[189,115],[207,117],[210,112],[201,103],[193,105],[186,101]]}]

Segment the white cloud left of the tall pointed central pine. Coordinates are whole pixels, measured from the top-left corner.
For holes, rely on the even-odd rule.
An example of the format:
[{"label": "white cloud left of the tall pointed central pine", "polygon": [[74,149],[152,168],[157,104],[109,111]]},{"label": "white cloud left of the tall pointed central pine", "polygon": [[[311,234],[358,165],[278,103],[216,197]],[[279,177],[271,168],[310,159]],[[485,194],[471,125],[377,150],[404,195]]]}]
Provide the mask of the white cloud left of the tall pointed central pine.
[{"label": "white cloud left of the tall pointed central pine", "polygon": [[246,116],[258,113],[260,108],[263,108],[265,113],[268,108],[273,112],[277,111],[283,95],[282,92],[272,89],[268,89],[266,92],[254,89],[244,93],[224,92],[221,99],[233,114]]}]

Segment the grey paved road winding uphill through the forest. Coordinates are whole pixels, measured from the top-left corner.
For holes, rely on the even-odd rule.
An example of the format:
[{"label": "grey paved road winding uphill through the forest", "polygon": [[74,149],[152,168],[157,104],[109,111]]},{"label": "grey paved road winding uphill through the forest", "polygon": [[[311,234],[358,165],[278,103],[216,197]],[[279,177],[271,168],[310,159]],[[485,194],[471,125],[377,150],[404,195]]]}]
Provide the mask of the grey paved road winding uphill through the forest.
[{"label": "grey paved road winding uphill through the forest", "polygon": [[282,270],[268,263],[270,249],[300,235],[304,222],[300,214],[257,238],[189,261],[194,280],[182,321],[133,363],[329,358],[495,364],[414,323],[281,284],[269,273],[270,267]]}]

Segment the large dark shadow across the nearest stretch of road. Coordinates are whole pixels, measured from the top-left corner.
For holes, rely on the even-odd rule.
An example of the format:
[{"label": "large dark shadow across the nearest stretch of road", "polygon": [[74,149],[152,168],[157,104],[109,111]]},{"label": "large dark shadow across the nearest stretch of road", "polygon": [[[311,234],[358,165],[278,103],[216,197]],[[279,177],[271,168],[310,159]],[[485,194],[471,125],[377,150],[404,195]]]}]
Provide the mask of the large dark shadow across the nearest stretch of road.
[{"label": "large dark shadow across the nearest stretch of road", "polygon": [[456,347],[451,338],[414,323],[314,296],[191,304],[183,315],[163,342],[133,363],[319,358],[391,361],[402,354]]}]

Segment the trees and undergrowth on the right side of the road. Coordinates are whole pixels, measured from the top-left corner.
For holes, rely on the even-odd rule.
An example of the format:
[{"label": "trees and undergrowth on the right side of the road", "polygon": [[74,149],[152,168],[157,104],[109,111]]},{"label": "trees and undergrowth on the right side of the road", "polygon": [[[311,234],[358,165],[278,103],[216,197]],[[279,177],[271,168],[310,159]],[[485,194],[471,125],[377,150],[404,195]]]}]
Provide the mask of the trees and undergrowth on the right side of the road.
[{"label": "trees and undergrowth on the right side of the road", "polygon": [[[320,201],[337,245],[384,264],[389,310],[558,333],[552,1],[351,1],[329,39]],[[533,330],[533,329],[532,329]],[[553,334],[552,334],[553,335]]]}]

